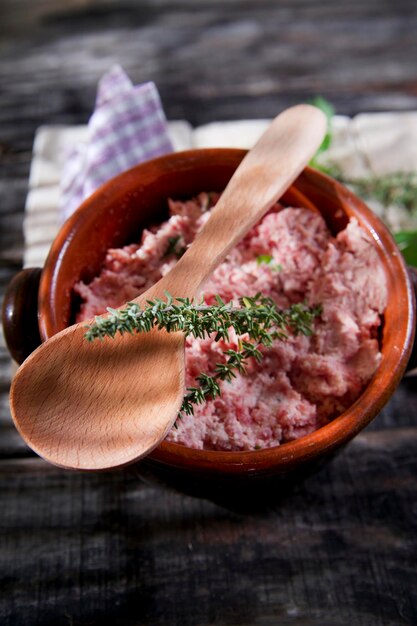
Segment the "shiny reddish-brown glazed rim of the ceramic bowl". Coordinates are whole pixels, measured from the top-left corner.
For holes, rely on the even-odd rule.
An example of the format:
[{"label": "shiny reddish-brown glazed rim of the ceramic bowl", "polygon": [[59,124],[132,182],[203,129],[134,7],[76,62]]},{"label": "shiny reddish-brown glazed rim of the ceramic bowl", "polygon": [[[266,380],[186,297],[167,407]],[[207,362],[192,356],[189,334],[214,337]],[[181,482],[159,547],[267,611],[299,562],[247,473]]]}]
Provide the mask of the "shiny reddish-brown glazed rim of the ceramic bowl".
[{"label": "shiny reddish-brown glazed rim of the ceramic bowl", "polygon": [[[43,337],[53,334],[50,331],[53,324],[49,320],[54,316],[53,294],[58,288],[56,267],[63,262],[65,252],[76,238],[75,225],[85,223],[83,219],[80,220],[80,216],[88,213],[92,205],[97,205],[100,200],[105,202],[114,189],[120,193],[125,180],[129,177],[131,179],[136,173],[140,175],[149,166],[156,164],[172,170],[175,163],[201,163],[204,159],[226,159],[229,165],[232,159],[237,166],[244,154],[244,150],[227,148],[172,153],[123,172],[90,196],[66,222],[66,235],[62,229],[52,244],[46,261],[39,290],[39,320]],[[341,206],[341,216],[344,214],[345,219],[346,216],[356,217],[375,242],[386,270],[389,294],[383,323],[383,358],[377,372],[346,411],[329,424],[294,441],[253,451],[197,450],[164,441],[149,455],[149,459],[185,470],[199,468],[222,474],[268,473],[277,468],[284,472],[290,471],[300,463],[308,463],[332,453],[352,439],[377,415],[401,380],[414,339],[415,302],[405,262],[391,234],[364,202],[343,185],[317,170],[306,168],[293,187],[319,208],[320,198],[323,202],[326,197],[336,199]]]}]

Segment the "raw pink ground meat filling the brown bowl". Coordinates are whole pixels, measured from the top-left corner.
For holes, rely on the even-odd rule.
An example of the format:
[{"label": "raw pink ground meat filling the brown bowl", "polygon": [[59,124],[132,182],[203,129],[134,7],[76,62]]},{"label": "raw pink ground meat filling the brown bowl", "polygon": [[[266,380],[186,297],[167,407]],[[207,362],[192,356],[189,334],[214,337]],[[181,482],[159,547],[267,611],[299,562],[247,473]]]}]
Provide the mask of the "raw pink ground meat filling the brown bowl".
[{"label": "raw pink ground meat filling the brown bowl", "polygon": [[[215,194],[169,201],[171,217],[145,230],[142,241],[108,251],[102,271],[75,287],[78,321],[118,307],[153,285],[176,263],[208,219]],[[271,257],[271,260],[269,261]],[[261,262],[260,259],[269,262]],[[382,264],[368,235],[351,220],[333,237],[321,216],[276,205],[217,268],[205,301],[226,302],[262,292],[283,308],[322,305],[311,337],[289,336],[264,350],[247,375],[221,383],[221,396],[184,416],[168,440],[214,450],[253,450],[308,434],[345,410],[378,367],[377,340],[387,292]],[[173,294],[175,295],[175,294]],[[228,342],[188,338],[186,386],[213,373]]]}]

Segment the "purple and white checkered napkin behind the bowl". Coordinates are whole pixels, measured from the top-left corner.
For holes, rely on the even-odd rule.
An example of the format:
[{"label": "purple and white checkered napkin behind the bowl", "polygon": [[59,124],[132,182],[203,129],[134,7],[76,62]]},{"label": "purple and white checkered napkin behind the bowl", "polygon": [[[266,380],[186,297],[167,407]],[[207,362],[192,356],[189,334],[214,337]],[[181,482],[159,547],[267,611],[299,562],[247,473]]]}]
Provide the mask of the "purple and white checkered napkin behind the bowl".
[{"label": "purple and white checkered napkin behind the bowl", "polygon": [[133,86],[123,69],[114,66],[100,80],[86,144],[66,155],[61,221],[113,176],[172,150],[154,83]]}]

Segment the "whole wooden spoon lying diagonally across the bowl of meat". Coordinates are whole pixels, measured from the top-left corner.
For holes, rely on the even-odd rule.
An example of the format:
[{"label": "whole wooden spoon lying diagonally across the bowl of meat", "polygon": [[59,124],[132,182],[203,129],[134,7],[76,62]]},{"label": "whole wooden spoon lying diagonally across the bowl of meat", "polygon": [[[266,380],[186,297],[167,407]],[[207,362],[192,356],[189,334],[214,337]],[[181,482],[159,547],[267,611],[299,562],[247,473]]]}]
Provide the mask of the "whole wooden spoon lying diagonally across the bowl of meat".
[{"label": "whole wooden spoon lying diagonally across the bowl of meat", "polygon": [[[195,297],[228,252],[279,199],[320,146],[321,111],[281,113],[245,156],[176,266],[135,302]],[[18,370],[13,419],[28,445],[61,467],[99,470],[140,459],[172,427],[184,395],[184,335],[152,330],[89,343],[86,324],[54,335]]]}]

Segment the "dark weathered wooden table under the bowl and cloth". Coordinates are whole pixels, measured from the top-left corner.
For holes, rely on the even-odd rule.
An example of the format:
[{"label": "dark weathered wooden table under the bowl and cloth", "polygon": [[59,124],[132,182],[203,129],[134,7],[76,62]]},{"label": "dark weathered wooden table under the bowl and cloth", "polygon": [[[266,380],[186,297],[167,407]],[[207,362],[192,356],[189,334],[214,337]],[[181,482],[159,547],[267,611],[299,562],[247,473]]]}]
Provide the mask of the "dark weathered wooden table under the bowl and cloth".
[{"label": "dark weathered wooden table under the bowl and cloth", "polygon": [[[2,0],[0,287],[22,259],[36,128],[85,123],[114,63],[170,119],[417,108],[415,0]],[[0,346],[0,624],[417,624],[417,392],[404,381],[334,462],[242,514],[35,457]]]}]

